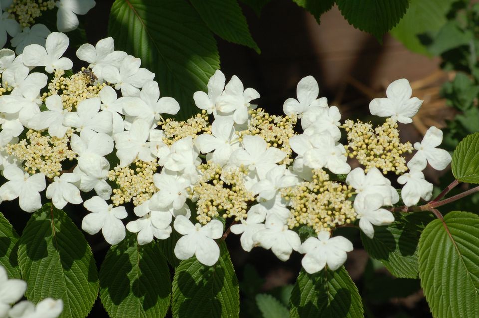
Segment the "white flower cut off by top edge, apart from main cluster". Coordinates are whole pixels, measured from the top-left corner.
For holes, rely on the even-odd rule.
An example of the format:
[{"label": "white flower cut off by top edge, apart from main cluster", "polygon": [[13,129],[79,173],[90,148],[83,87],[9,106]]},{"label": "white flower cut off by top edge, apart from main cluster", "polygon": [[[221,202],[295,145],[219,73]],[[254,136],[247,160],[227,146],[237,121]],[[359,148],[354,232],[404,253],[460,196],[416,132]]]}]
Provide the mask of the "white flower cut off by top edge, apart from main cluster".
[{"label": "white flower cut off by top edge, apart from main cluster", "polygon": [[79,25],[78,15],[84,15],[95,6],[94,0],[59,0],[56,1],[56,27],[60,32],[70,32]]}]

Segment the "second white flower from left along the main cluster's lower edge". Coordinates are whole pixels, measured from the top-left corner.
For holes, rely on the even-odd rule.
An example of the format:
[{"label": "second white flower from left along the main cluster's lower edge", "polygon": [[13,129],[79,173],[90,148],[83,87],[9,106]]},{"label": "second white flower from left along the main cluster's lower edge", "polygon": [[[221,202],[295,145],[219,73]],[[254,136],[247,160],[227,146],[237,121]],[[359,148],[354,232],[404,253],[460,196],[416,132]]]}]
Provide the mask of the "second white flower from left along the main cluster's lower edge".
[{"label": "second white flower from left along the main cluster's lower edge", "polygon": [[65,207],[67,202],[71,204],[80,204],[83,202],[80,196],[81,176],[75,173],[63,173],[61,176],[55,176],[53,182],[46,189],[46,198],[52,199],[51,202],[57,209]]}]

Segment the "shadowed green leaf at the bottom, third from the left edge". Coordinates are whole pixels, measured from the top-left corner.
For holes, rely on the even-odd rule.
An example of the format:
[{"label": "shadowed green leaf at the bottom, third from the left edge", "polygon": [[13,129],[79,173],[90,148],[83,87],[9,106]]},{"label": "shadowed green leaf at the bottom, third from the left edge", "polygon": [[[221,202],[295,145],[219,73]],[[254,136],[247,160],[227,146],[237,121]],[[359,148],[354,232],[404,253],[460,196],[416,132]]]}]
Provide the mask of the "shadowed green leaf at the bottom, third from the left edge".
[{"label": "shadowed green leaf at the bottom, third from the left edge", "polygon": [[158,245],[138,245],[129,234],[110,248],[100,269],[100,298],[111,318],[165,317],[170,296],[170,271]]}]

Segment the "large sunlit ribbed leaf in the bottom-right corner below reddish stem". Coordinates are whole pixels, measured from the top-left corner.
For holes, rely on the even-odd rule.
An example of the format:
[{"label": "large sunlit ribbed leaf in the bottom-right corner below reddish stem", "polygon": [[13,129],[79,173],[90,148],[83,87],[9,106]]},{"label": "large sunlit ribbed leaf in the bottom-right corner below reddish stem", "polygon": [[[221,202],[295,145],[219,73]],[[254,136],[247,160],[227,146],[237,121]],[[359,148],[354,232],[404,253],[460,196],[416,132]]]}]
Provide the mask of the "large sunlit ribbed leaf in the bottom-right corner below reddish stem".
[{"label": "large sunlit ribbed leaf in the bottom-right corner below reddish stem", "polygon": [[476,214],[454,211],[426,226],[419,240],[419,277],[433,317],[479,317]]}]

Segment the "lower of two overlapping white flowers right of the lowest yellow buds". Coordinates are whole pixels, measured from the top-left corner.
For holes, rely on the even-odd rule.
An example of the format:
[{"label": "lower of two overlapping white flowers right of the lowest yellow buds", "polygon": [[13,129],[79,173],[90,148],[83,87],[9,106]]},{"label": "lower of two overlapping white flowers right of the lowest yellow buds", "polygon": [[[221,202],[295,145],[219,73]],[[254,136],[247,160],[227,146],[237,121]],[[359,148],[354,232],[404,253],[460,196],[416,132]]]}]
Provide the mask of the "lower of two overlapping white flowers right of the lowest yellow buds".
[{"label": "lower of two overlapping white flowers right of the lowest yellow buds", "polygon": [[354,200],[354,210],[359,219],[359,228],[369,238],[374,237],[374,225],[388,225],[394,222],[394,216],[386,209],[381,209],[384,199],[378,194],[369,194],[363,201]]}]

